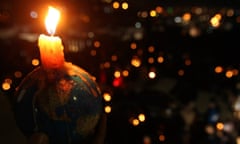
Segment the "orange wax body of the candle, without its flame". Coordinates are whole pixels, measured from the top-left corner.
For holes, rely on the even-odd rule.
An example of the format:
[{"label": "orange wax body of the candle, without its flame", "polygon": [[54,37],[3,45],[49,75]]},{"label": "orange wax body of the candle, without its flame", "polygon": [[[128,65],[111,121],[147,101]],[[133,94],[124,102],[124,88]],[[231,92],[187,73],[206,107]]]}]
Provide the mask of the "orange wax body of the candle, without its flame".
[{"label": "orange wax body of the candle, without its flame", "polygon": [[60,68],[64,64],[62,40],[57,36],[41,34],[38,39],[42,66],[46,69]]}]

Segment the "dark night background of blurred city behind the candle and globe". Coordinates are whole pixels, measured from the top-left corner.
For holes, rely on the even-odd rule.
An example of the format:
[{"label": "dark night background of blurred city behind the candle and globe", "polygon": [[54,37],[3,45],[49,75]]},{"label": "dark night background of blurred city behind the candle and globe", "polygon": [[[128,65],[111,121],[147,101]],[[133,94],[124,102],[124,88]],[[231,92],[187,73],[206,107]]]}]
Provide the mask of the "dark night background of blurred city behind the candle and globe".
[{"label": "dark night background of blurred city behind the candle and globe", "polygon": [[[93,74],[102,91],[111,93],[112,101],[105,103],[112,107],[106,143],[139,144],[146,136],[155,144],[236,143],[240,1],[119,0],[120,4],[129,4],[127,10],[114,9],[113,2],[0,0],[0,80],[3,84],[11,79],[10,89],[1,88],[0,143],[25,143],[13,117],[12,96],[22,78],[35,68],[32,59],[39,58],[37,37],[46,33],[43,17],[52,4],[62,10],[56,35],[63,40],[66,60]],[[157,6],[163,12],[149,16]],[[31,17],[30,12],[37,17]],[[142,17],[145,12],[147,17]],[[177,23],[175,20],[185,13],[191,13],[191,20]],[[215,14],[222,16],[219,27],[210,24]],[[191,34],[192,30],[197,34]],[[100,47],[94,45],[96,41]],[[137,44],[136,49],[130,48],[132,43]],[[155,48],[152,53],[150,46]],[[160,55],[163,63],[157,62]],[[141,59],[140,67],[131,65],[134,56]],[[149,63],[149,57],[155,62]],[[186,65],[186,60],[191,64]],[[220,74],[214,71],[216,66],[223,68]],[[152,69],[157,74],[155,79],[147,75]],[[129,75],[114,78],[116,70],[128,70]],[[184,75],[179,75],[179,70]],[[22,77],[16,78],[16,71]],[[232,77],[226,77],[233,71]],[[113,85],[114,80],[119,85]],[[139,113],[145,114],[146,121],[133,126],[131,120]],[[218,119],[211,120],[215,114]],[[234,128],[217,132],[217,122],[230,123]],[[208,125],[216,130],[213,134],[205,131]],[[165,140],[159,140],[160,135]]]}]

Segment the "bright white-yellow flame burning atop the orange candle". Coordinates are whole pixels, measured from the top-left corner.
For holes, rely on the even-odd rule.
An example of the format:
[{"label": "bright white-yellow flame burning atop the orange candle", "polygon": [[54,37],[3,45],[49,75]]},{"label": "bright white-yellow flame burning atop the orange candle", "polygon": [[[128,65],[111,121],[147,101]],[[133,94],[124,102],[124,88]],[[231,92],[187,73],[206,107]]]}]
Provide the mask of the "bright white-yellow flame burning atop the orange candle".
[{"label": "bright white-yellow flame burning atop the orange candle", "polygon": [[54,35],[59,19],[60,19],[60,12],[57,9],[50,6],[48,8],[48,15],[46,16],[46,19],[45,19],[47,32],[50,35]]}]

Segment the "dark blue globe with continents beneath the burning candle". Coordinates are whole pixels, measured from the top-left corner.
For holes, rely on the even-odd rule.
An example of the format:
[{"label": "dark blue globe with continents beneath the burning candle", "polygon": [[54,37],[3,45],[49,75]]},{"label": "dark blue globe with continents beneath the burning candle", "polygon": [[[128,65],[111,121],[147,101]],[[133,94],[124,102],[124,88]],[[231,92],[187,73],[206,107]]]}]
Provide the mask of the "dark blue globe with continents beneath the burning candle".
[{"label": "dark blue globe with continents beneath the burning candle", "polygon": [[15,118],[27,137],[48,136],[50,144],[82,144],[92,139],[102,113],[101,91],[82,68],[64,62],[39,66],[16,89]]}]

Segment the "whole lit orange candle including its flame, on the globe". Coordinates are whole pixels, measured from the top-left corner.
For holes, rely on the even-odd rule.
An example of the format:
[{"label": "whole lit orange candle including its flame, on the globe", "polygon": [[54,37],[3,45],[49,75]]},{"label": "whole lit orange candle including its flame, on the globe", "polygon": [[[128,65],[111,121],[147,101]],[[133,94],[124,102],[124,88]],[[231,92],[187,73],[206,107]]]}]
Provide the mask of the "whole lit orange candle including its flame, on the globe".
[{"label": "whole lit orange candle including its flame, on the globe", "polygon": [[61,68],[64,65],[64,53],[61,38],[53,36],[60,18],[60,12],[49,7],[45,25],[50,36],[41,34],[38,39],[40,58],[45,69]]}]

